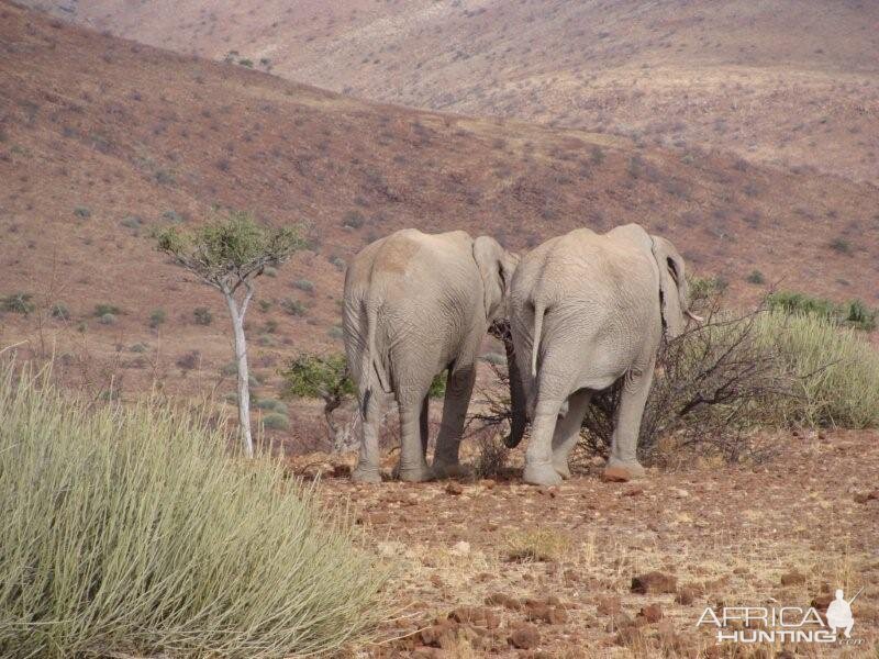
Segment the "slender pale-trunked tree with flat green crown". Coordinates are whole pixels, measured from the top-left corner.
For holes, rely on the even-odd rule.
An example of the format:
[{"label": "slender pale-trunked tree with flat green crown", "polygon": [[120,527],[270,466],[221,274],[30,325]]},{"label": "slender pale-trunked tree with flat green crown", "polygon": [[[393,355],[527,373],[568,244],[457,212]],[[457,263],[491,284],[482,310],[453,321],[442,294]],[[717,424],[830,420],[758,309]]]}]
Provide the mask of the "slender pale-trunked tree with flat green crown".
[{"label": "slender pale-trunked tree with flat green crown", "polygon": [[231,212],[227,217],[191,232],[168,226],[157,233],[156,239],[160,252],[223,293],[235,336],[241,437],[245,453],[252,457],[254,443],[244,316],[254,295],[254,280],[266,268],[278,267],[302,249],[305,241],[299,228],[263,227],[244,212]]}]

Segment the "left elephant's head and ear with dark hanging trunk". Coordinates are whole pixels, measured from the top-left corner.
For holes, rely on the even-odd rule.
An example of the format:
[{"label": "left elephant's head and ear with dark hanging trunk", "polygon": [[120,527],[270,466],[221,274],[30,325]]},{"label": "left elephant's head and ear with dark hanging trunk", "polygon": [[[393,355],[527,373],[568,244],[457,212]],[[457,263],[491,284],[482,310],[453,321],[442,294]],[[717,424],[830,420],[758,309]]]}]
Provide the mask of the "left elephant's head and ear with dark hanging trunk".
[{"label": "left elephant's head and ear with dark hanging trunk", "polygon": [[504,443],[516,446],[525,433],[527,423],[525,416],[525,388],[519,372],[519,366],[513,350],[513,340],[510,336],[510,325],[507,321],[507,294],[513,272],[519,265],[519,257],[507,252],[500,244],[489,236],[479,236],[474,241],[474,260],[479,266],[485,291],[486,320],[492,328],[492,334],[503,342],[507,353],[507,369],[510,379],[510,405],[512,421],[510,435]]}]

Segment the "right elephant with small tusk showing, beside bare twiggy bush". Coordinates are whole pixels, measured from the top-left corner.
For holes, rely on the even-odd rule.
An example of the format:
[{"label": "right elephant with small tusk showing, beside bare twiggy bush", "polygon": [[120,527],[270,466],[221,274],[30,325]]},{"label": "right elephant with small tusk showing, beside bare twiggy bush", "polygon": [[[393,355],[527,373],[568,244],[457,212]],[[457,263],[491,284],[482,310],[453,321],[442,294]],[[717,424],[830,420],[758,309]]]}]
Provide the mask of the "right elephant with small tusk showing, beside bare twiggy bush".
[{"label": "right elephant with small tusk showing, beside bare twiggy bush", "polygon": [[642,477],[637,437],[657,349],[664,334],[686,330],[687,317],[701,321],[689,310],[675,246],[637,224],[605,234],[574,230],[522,257],[509,305],[532,422],[524,480],[570,478],[568,455],[591,395],[621,380],[605,469]]}]

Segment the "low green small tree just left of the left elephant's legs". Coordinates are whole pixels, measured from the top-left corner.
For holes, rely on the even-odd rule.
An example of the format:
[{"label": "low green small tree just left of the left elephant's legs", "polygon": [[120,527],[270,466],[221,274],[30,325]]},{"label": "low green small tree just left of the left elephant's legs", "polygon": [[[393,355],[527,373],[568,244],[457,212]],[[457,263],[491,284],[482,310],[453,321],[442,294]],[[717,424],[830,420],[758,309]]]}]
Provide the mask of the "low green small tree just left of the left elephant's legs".
[{"label": "low green small tree just left of the left elephant's legs", "polygon": [[334,447],[341,449],[347,444],[351,427],[340,427],[334,418],[334,412],[356,395],[345,356],[303,354],[288,361],[280,376],[285,381],[281,396],[322,400],[323,416],[333,436]]}]

